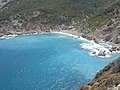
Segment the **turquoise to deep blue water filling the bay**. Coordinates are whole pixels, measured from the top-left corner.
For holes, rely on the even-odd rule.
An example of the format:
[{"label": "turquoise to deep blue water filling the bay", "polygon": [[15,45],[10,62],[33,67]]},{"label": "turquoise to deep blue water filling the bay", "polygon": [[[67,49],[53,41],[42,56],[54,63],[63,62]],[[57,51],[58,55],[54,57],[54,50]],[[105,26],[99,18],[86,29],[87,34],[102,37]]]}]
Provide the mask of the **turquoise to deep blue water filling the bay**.
[{"label": "turquoise to deep blue water filling the bay", "polygon": [[0,40],[0,90],[75,90],[118,57],[92,57],[83,42],[60,34]]}]

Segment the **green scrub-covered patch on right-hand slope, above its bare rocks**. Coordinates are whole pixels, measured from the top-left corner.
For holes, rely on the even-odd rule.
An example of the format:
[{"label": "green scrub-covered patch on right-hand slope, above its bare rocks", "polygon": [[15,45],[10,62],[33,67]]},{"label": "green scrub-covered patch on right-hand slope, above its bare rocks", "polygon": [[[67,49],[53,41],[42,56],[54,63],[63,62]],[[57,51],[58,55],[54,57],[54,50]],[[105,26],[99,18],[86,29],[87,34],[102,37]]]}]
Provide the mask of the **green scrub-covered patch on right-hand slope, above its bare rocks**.
[{"label": "green scrub-covered patch on right-hand slope, above its bare rocks", "polygon": [[99,8],[97,15],[89,19],[88,23],[90,26],[100,27],[118,16],[120,16],[120,0],[109,1]]}]

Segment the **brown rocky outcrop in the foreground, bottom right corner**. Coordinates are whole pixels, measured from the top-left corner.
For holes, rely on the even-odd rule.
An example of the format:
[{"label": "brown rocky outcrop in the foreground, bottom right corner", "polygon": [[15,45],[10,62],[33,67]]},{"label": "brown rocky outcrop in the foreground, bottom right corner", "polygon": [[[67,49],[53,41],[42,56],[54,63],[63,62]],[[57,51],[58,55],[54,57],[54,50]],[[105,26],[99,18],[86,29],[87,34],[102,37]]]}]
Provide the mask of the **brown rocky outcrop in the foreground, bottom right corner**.
[{"label": "brown rocky outcrop in the foreground, bottom right corner", "polygon": [[119,90],[120,58],[100,70],[93,81],[85,84],[80,90]]}]

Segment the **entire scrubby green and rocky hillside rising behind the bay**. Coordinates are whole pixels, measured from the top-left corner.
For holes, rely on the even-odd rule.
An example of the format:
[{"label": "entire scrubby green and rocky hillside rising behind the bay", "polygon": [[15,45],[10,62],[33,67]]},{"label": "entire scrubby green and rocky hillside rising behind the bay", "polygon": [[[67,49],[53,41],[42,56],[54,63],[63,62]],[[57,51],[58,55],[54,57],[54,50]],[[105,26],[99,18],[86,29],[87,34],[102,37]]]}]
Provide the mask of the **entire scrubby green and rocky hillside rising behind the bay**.
[{"label": "entire scrubby green and rocky hillside rising behind the bay", "polygon": [[71,25],[85,38],[119,44],[120,0],[11,0],[0,12],[0,36]]}]

